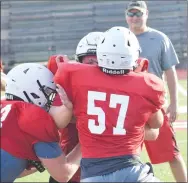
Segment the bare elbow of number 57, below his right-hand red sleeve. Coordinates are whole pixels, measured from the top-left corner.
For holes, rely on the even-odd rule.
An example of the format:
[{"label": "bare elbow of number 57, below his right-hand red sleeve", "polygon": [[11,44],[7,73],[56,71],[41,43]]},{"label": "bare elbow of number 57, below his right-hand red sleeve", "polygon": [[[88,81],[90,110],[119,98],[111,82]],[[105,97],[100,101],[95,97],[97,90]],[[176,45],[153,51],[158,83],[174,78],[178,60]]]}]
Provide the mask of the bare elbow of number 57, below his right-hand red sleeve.
[{"label": "bare elbow of number 57, below his right-hand red sleeve", "polygon": [[153,113],[151,117],[148,119],[147,124],[150,128],[160,128],[163,125],[164,115],[161,110]]}]

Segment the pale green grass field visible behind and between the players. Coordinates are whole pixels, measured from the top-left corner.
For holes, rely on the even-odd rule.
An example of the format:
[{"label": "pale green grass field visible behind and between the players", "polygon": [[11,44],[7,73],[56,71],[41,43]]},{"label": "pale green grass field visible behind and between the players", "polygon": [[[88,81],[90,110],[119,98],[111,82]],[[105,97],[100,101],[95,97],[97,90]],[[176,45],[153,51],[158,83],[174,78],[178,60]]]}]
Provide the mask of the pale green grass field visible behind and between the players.
[{"label": "pale green grass field visible behind and between the players", "polygon": [[[179,80],[179,84],[187,90],[187,81]],[[1,93],[3,95],[4,93]],[[179,92],[179,106],[187,106],[187,97]],[[178,120],[187,121],[187,113],[180,114]],[[180,148],[180,152],[183,155],[185,162],[187,163],[187,130],[177,130],[176,138],[178,142],[178,146]],[[147,152],[144,150],[141,156],[143,162],[149,161]],[[170,167],[168,163],[154,165],[155,174],[162,182],[174,182],[174,178],[170,171]],[[63,173],[63,172],[62,172]],[[33,175],[17,179],[16,182],[47,182],[49,178],[49,174],[47,172],[44,173],[35,173]]]}]

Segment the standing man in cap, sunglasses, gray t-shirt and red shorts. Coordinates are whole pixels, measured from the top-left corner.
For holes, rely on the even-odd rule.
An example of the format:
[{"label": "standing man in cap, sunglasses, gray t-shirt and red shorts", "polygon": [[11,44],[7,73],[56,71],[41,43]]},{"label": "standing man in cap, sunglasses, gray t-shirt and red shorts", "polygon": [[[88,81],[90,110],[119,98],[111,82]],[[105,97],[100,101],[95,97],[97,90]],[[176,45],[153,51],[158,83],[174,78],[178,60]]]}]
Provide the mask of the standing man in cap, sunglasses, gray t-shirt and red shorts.
[{"label": "standing man in cap, sunglasses, gray t-shirt and red shorts", "polygon": [[177,54],[164,33],[147,26],[148,9],[144,1],[130,2],[125,15],[129,29],[136,35],[142,49],[140,56],[150,62],[149,72],[160,78],[165,74],[170,94],[166,123],[161,128],[157,141],[145,142],[150,160],[153,164],[169,162],[176,181],[187,182],[186,166],[177,148],[170,124],[176,120],[178,109],[178,81],[175,70],[175,65],[179,63]]}]

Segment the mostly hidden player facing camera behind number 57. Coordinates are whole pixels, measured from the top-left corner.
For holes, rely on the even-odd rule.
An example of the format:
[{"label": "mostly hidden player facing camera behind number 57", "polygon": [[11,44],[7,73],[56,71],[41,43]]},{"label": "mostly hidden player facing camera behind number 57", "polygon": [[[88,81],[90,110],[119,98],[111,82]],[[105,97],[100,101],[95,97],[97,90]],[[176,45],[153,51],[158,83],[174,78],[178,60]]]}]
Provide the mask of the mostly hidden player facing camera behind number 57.
[{"label": "mostly hidden player facing camera behind number 57", "polygon": [[[102,32],[91,32],[84,36],[78,43],[76,49],[76,60],[80,63],[97,64],[96,47],[97,41],[103,35]],[[59,63],[68,62],[65,55],[52,55],[48,60],[48,69],[55,74]],[[58,95],[56,95],[53,105],[61,105]],[[60,144],[63,152],[69,153],[78,143],[78,131],[75,123],[70,123],[66,128],[60,130]],[[49,179],[50,183],[57,183],[53,177]],[[80,182],[80,169],[71,178],[69,182]]]}]

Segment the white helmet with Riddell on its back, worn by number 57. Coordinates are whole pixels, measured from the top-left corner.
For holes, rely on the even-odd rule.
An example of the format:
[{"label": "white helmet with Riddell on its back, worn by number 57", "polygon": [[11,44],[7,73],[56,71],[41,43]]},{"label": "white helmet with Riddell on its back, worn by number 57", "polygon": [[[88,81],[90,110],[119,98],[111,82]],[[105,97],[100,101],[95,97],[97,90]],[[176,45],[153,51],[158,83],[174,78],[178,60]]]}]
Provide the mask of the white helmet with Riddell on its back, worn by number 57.
[{"label": "white helmet with Riddell on its back, worn by number 57", "polygon": [[136,36],[125,27],[112,27],[97,45],[99,67],[109,74],[124,74],[139,58],[140,46]]}]

